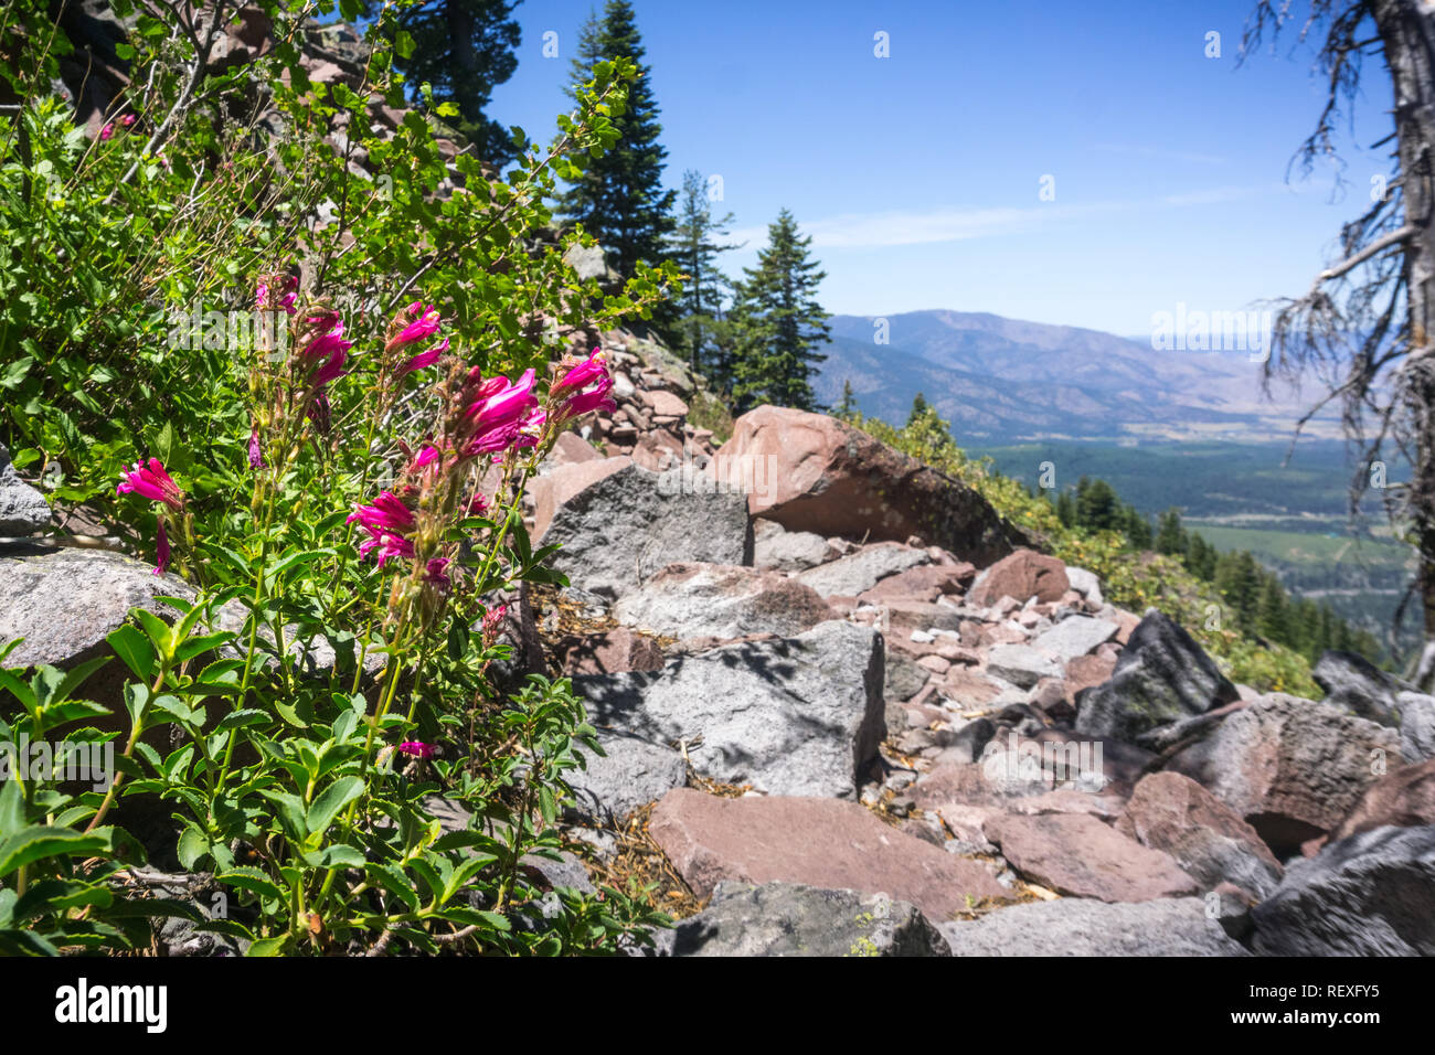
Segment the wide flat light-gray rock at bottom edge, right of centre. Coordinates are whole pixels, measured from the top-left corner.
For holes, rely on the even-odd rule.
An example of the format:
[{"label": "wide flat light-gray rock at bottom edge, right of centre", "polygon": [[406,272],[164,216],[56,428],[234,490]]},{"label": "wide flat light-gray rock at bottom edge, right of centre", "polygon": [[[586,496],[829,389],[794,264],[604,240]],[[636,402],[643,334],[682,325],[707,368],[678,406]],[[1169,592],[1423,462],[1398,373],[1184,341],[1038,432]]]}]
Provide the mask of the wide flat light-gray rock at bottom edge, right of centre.
[{"label": "wide flat light-gray rock at bottom edge, right of centre", "polygon": [[937,927],[953,956],[1248,956],[1198,897],[1105,903],[1063,897]]}]

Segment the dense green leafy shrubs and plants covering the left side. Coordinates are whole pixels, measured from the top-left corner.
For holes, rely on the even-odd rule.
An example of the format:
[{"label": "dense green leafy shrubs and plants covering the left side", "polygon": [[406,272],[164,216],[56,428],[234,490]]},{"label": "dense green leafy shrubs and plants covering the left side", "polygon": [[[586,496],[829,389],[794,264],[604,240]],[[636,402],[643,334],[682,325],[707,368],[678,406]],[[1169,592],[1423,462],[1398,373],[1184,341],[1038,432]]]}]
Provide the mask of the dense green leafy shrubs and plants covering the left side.
[{"label": "dense green leafy shrubs and plants covering the left side", "polygon": [[[313,13],[298,0],[265,10],[281,42]],[[24,102],[0,138],[4,439],[44,471],[62,511],[83,502],[146,547],[168,528],[174,567],[199,593],[169,600],[172,624],[136,609],[110,634],[131,675],[118,706],[79,695],[93,665],[0,670],[0,741],[59,732],[115,756],[92,791],[43,774],[0,784],[0,947],[145,949],[151,919],[199,919],[129,893],[126,870],[146,857],[122,828],[133,797],[174,812],[177,841],[152,850],[232,893],[231,916],[201,929],[250,955],[611,953],[620,937],[647,940],[660,917],[640,891],[561,890],[540,906],[519,867],[555,851],[565,775],[597,749],[565,680],[505,693],[494,677],[509,653],[498,597],[557,580],[519,511],[555,432],[494,464],[502,484],[479,514],[468,488],[484,462],[445,469],[442,485],[405,468],[456,428],[469,367],[541,376],[554,327],[611,327],[662,299],[644,267],[603,297],[544,237],[555,179],[618,138],[611,115],[636,67],[597,63],[551,145],[524,139],[495,181],[468,155],[445,162],[432,109],[382,126],[382,108],[405,100],[389,43],[399,9],[366,30],[364,92],[310,85],[288,43],[205,73],[188,36],[146,13],[133,95],[93,142],[50,95],[63,34],[39,32],[37,0],[14,11],[3,43],[22,57],[3,69]],[[284,136],[255,135],[261,106]],[[344,152],[329,139],[340,125]],[[273,301],[297,261],[297,314],[255,310],[255,281]],[[419,347],[395,334],[426,310],[405,309],[415,300],[441,314],[452,357],[405,375]],[[306,320],[330,310],[353,347],[320,385],[297,349],[317,333]],[[182,491],[174,507],[115,494],[121,466],[149,458]],[[409,495],[423,527],[412,561],[376,568],[347,517],[383,487]],[[430,558],[448,574],[435,578]],[[334,662],[317,675],[294,660],[324,650]],[[161,754],[146,735],[158,726],[178,728],[179,746]],[[439,827],[436,794],[471,811],[466,830]]]}]

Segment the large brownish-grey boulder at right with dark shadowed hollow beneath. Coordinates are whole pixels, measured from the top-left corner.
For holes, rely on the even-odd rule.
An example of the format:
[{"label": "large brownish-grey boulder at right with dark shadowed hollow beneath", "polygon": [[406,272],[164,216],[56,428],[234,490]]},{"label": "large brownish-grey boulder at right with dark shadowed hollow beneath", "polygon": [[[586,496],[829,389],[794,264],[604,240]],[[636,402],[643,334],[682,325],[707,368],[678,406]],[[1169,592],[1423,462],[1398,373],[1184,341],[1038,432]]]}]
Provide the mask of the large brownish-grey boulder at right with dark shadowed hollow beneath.
[{"label": "large brownish-grey boulder at right with dark shadowed hollow beneath", "polygon": [[1383,766],[1398,764],[1393,729],[1329,703],[1269,693],[1233,711],[1165,768],[1205,787],[1284,858],[1333,831]]}]

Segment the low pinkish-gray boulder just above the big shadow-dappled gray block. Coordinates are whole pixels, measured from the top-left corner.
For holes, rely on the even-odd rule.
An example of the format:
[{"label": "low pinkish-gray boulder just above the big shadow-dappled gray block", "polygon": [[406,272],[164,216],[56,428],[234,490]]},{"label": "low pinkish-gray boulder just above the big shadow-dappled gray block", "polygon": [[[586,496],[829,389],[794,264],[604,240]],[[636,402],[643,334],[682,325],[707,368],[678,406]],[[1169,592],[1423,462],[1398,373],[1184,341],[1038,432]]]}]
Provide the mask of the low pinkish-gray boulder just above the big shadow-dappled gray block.
[{"label": "low pinkish-gray boulder just above the big shadow-dappled gray block", "polygon": [[730,564],[669,564],[620,599],[613,617],[672,637],[772,633],[795,637],[834,617],[817,591],[778,571]]}]

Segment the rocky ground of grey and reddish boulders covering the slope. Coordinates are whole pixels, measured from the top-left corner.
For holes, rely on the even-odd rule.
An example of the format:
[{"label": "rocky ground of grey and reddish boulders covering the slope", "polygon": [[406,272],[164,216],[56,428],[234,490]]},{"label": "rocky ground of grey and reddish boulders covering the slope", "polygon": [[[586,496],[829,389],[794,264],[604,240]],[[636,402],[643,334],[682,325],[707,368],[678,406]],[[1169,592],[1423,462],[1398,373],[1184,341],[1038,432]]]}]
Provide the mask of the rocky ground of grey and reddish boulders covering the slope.
[{"label": "rocky ground of grey and reddish boulders covering the slope", "polygon": [[[509,627],[607,751],[552,883],[657,858],[673,956],[1435,953],[1435,699],[1339,653],[1320,702],[1233,685],[967,488],[821,415],[719,446],[680,363],[607,346],[618,413],[531,487],[571,586]],[[42,507],[4,459],[0,534]],[[0,560],[11,663],[99,655],[177,590]]]}]

